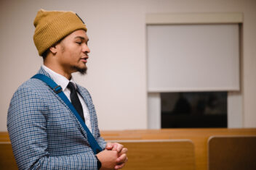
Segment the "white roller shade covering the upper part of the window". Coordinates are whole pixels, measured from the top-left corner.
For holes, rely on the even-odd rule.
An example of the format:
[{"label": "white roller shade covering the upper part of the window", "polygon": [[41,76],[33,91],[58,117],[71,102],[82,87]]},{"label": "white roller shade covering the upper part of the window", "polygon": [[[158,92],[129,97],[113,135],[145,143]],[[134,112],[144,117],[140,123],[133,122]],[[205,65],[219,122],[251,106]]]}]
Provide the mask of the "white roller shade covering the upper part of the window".
[{"label": "white roller shade covering the upper part of the window", "polygon": [[147,25],[148,92],[239,90],[239,25]]}]

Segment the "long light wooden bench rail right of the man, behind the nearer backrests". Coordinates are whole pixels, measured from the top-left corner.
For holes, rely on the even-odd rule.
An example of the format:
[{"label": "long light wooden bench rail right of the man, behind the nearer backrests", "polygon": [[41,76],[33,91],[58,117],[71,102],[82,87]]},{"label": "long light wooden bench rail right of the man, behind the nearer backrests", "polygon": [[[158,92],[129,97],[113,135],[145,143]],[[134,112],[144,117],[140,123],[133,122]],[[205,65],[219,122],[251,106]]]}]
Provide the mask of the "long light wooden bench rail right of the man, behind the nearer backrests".
[{"label": "long light wooden bench rail right of the man, behind the nearer backrests", "polygon": [[208,169],[208,139],[215,135],[256,135],[256,128],[226,129],[226,128],[198,128],[198,129],[145,129],[102,131],[105,140],[159,140],[159,139],[189,139],[195,146],[196,170]]}]

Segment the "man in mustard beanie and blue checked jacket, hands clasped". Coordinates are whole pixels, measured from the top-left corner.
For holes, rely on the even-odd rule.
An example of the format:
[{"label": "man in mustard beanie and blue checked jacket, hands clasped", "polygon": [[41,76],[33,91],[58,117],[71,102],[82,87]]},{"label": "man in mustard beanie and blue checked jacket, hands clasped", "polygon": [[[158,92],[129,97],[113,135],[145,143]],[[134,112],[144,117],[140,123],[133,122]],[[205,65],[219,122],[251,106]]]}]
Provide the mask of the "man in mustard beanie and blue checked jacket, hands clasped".
[{"label": "man in mustard beanie and blue checked jacket, hands clasped", "polygon": [[[127,148],[105,143],[88,91],[73,81],[72,73],[87,71],[87,27],[73,12],[39,10],[33,40],[44,64],[39,74],[60,85],[84,122],[49,86],[36,78],[21,85],[12,97],[7,128],[19,169],[121,169]],[[98,145],[94,153],[86,124]],[[89,133],[90,133],[89,132]]]}]

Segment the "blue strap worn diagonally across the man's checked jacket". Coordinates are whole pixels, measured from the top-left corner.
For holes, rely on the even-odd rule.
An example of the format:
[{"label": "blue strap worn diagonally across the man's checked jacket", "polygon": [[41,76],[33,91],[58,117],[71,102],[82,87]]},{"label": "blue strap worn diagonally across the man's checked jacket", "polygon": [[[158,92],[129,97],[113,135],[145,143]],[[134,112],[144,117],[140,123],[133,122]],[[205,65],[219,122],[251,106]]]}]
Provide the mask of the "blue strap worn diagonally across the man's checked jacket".
[{"label": "blue strap worn diagonally across the man's checked jacket", "polygon": [[100,145],[95,140],[95,137],[93,137],[87,125],[81,119],[81,116],[79,116],[79,113],[73,107],[72,103],[68,100],[67,96],[63,93],[63,89],[60,87],[60,85],[57,85],[55,81],[53,81],[51,78],[47,77],[46,75],[37,74],[31,78],[36,78],[47,83],[47,85],[49,85],[49,87],[52,88],[52,90],[54,90],[57,95],[59,95],[59,97],[65,102],[68,108],[71,109],[73,114],[76,116],[76,119],[79,120],[80,124],[82,125],[82,127],[84,127],[84,130],[87,132],[87,140],[89,141],[89,145],[91,145],[93,152],[97,154],[100,151],[102,151],[103,149],[100,148]]}]

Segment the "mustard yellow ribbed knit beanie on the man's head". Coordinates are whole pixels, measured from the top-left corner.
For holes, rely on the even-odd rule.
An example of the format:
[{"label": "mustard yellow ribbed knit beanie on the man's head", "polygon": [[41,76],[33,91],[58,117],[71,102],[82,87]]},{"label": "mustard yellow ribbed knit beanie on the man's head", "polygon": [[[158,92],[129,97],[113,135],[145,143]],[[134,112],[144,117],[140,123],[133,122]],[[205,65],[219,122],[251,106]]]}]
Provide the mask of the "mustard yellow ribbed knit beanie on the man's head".
[{"label": "mustard yellow ribbed knit beanie on the man's head", "polygon": [[87,27],[81,18],[74,12],[45,11],[40,9],[33,21],[36,27],[33,35],[33,42],[36,45],[39,55],[66,35],[75,30],[85,30]]}]

